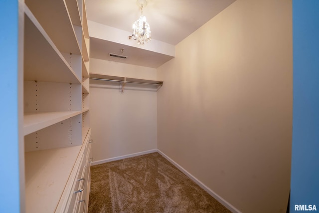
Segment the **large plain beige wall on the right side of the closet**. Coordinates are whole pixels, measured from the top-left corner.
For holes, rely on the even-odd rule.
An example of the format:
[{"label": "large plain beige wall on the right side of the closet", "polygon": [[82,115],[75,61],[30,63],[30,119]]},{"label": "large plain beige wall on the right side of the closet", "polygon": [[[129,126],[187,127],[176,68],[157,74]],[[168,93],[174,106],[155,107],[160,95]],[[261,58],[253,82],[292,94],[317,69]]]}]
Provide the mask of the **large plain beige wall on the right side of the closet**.
[{"label": "large plain beige wall on the right side of the closet", "polygon": [[243,213],[286,212],[292,2],[237,0],[158,68],[158,149]]}]

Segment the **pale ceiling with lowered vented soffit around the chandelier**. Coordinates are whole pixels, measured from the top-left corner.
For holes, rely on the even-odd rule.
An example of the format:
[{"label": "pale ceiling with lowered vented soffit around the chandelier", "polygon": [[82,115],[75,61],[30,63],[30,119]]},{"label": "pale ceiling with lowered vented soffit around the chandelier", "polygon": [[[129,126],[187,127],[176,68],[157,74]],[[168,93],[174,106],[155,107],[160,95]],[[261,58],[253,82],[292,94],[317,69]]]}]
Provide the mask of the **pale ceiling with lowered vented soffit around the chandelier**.
[{"label": "pale ceiling with lowered vented soffit around the chandelier", "polygon": [[[90,37],[90,57],[157,68],[174,56],[157,51],[155,45],[160,47],[159,42],[176,45],[234,1],[148,0],[143,14],[151,26],[152,41],[139,47],[135,40],[128,43],[132,24],[141,15],[137,0],[86,0],[90,36],[91,21],[127,32],[116,41]],[[120,48],[125,48],[125,52],[121,53]],[[109,52],[125,55],[127,59],[110,57]]]}]

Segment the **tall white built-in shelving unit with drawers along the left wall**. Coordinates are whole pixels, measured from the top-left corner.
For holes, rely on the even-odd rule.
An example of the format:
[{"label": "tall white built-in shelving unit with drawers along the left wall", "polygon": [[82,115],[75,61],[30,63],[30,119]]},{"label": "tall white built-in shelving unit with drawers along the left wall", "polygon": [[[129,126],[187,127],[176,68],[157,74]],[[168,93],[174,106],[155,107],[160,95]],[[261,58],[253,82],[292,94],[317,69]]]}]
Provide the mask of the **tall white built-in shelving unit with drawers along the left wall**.
[{"label": "tall white built-in shelving unit with drawers along the left wall", "polygon": [[[25,0],[23,12],[25,210],[87,212],[91,130],[85,2]],[[74,193],[79,188],[83,192]]]}]

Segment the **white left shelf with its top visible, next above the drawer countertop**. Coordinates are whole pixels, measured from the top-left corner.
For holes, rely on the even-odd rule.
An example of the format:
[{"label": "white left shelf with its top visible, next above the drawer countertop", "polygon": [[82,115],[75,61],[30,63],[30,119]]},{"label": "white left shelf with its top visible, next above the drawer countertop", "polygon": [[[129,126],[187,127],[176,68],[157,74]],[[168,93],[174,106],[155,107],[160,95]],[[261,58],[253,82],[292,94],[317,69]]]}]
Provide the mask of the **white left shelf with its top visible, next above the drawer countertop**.
[{"label": "white left shelf with its top visible, next above the drawer countertop", "polygon": [[25,112],[23,119],[24,135],[28,135],[81,113],[83,113],[83,110],[63,112]]}]

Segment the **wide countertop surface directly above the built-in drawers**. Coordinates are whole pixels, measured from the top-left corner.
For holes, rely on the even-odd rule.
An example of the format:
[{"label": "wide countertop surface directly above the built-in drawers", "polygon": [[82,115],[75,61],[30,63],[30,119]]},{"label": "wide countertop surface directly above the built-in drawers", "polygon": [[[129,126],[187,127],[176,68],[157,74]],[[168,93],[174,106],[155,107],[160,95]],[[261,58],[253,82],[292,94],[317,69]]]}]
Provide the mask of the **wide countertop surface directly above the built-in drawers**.
[{"label": "wide countertop surface directly above the built-in drawers", "polygon": [[26,213],[53,213],[81,146],[25,153]]}]

